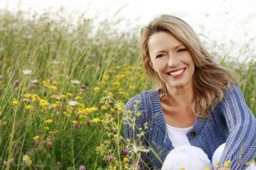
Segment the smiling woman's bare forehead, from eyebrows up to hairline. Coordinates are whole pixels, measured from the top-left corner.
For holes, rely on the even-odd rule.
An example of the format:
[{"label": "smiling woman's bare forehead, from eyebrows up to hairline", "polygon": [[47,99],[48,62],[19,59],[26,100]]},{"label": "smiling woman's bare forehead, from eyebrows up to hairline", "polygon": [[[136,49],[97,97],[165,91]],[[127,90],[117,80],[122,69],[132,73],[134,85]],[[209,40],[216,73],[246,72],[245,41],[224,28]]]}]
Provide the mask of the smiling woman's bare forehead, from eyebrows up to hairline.
[{"label": "smiling woman's bare forehead, from eyebrows up to hairline", "polygon": [[148,39],[149,51],[164,50],[166,48],[176,48],[178,45],[183,44],[176,37],[172,36],[171,33],[160,31],[154,33]]}]

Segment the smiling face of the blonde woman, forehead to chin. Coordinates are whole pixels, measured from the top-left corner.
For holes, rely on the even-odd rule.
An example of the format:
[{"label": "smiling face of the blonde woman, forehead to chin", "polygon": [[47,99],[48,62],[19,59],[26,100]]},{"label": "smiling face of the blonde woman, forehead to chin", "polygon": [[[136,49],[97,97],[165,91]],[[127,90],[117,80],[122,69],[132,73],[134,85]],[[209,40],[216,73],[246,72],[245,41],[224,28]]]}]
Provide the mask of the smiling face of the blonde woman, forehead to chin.
[{"label": "smiling face of the blonde woman, forehead to chin", "polygon": [[182,42],[161,31],[149,37],[148,49],[150,65],[167,87],[192,86],[195,64]]}]

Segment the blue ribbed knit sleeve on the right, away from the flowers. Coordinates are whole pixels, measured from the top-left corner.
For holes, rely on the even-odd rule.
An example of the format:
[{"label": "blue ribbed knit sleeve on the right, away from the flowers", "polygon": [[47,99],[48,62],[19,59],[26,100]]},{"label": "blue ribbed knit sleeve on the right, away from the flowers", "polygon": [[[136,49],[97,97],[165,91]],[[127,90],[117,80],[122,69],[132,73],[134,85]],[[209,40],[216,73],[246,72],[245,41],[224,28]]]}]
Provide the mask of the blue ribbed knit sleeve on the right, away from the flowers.
[{"label": "blue ribbed knit sleeve on the right, away from the flowers", "polygon": [[220,163],[230,160],[232,169],[245,169],[246,162],[256,156],[256,121],[237,85],[225,92],[222,112],[230,135]]}]

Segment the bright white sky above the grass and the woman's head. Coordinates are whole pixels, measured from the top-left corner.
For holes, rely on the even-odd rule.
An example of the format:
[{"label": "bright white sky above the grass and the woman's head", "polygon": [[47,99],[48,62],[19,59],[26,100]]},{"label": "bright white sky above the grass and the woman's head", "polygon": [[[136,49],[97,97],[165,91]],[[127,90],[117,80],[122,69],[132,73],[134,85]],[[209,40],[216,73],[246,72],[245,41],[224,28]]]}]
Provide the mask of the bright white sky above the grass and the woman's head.
[{"label": "bright white sky above the grass and the woman's head", "polygon": [[[0,10],[13,12],[22,9],[43,14],[63,8],[74,20],[79,14],[97,16],[97,20],[121,17],[130,25],[120,29],[145,26],[160,14],[175,14],[198,34],[207,33],[222,43],[232,40],[238,46],[256,37],[255,7],[255,0],[0,0]],[[256,48],[255,41],[252,43]]]}]

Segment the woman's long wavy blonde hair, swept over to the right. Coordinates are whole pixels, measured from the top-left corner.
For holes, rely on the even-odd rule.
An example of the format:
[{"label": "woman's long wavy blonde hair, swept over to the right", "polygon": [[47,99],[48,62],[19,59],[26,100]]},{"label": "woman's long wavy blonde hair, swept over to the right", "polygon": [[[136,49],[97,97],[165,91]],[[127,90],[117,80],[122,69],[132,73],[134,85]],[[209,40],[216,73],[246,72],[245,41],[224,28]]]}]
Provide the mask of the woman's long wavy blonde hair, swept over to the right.
[{"label": "woman's long wavy blonde hair, swept over to the right", "polygon": [[161,15],[141,30],[143,65],[148,76],[160,82],[160,99],[167,96],[166,84],[151,67],[148,52],[149,37],[160,31],[172,34],[189,49],[195,63],[193,76],[195,113],[198,117],[209,117],[207,111],[212,111],[224,98],[224,90],[231,88],[231,82],[238,82],[236,73],[213,61],[212,55],[207,52],[195,31],[186,22],[172,15]]}]

